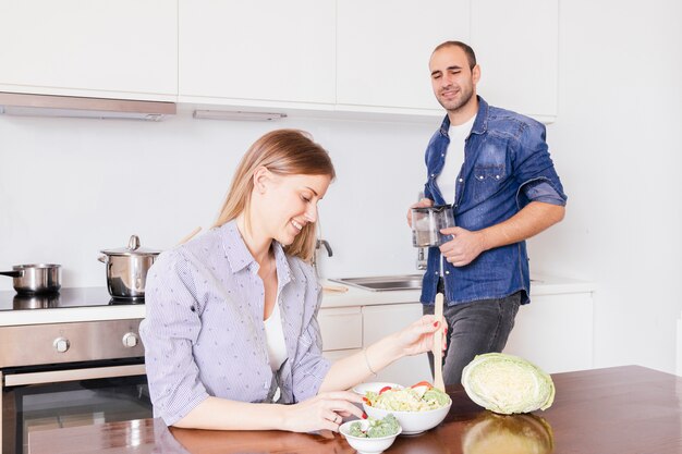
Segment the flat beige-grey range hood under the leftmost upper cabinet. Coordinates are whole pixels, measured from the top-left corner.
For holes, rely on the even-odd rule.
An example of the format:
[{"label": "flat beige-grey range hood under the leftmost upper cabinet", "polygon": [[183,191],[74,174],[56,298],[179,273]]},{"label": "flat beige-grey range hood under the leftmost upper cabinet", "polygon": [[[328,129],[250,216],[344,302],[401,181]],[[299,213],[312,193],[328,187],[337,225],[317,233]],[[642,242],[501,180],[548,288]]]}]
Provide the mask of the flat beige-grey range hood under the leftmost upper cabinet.
[{"label": "flat beige-grey range hood under the leftmost upper cabinet", "polygon": [[7,115],[161,121],[175,111],[174,102],[0,91],[0,114]]}]

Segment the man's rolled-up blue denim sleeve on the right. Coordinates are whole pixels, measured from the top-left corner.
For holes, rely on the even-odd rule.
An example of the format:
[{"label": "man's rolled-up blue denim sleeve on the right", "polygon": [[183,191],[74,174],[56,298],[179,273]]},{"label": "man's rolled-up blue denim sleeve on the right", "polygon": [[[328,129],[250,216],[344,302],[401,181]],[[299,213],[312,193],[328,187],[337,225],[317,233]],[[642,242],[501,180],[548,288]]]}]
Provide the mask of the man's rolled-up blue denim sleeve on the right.
[{"label": "man's rolled-up blue denim sleeve on the right", "polygon": [[515,150],[514,174],[520,187],[516,195],[520,208],[529,201],[567,204],[568,197],[549,156],[543,124],[524,124]]}]

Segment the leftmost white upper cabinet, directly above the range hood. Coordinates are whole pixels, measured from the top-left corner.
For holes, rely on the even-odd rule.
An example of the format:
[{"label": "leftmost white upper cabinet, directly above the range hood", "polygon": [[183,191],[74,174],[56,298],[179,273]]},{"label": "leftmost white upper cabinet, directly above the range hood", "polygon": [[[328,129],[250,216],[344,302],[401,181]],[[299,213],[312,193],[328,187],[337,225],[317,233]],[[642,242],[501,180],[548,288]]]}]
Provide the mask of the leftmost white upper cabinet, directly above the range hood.
[{"label": "leftmost white upper cabinet, directly above the range hood", "polygon": [[174,100],[178,7],[167,0],[0,3],[0,90]]}]

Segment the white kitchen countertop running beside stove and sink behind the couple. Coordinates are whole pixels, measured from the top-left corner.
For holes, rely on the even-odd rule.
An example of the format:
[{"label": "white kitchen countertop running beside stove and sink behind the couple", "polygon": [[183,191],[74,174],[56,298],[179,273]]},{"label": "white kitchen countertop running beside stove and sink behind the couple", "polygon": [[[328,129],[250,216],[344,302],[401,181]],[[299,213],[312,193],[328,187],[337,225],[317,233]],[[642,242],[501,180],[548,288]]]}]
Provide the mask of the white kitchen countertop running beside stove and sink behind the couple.
[{"label": "white kitchen countertop running beside stove and sink behind the couple", "polygon": [[[322,280],[322,284],[340,285]],[[589,293],[594,285],[589,282],[564,278],[535,275],[531,283],[531,296]],[[68,323],[77,321],[142,319],[145,305],[120,304],[113,300],[105,287],[62,289],[61,306],[41,309],[22,309],[15,300],[16,294],[0,292],[0,327],[17,324]],[[372,306],[383,304],[416,303],[419,291],[370,292],[349,286],[346,292],[327,292],[322,294],[322,307]],[[95,306],[83,306],[95,304]]]}]

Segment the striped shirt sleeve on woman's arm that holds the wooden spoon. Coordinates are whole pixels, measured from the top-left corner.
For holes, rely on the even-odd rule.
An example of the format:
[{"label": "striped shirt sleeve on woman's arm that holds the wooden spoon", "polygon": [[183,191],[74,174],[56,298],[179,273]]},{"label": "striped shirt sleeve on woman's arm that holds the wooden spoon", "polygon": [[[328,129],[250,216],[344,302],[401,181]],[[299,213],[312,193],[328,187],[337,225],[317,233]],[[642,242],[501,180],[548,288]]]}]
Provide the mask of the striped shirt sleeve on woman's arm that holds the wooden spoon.
[{"label": "striped shirt sleeve on woman's arm that holds the wooden spoon", "polygon": [[[317,314],[321,304],[321,292],[317,291],[309,298],[316,300],[314,316],[301,333],[297,353],[292,364],[294,402],[305,401],[317,395],[325,376],[331,368],[328,359],[322,357],[322,336],[317,322]],[[306,302],[307,303],[307,302]]]}]

